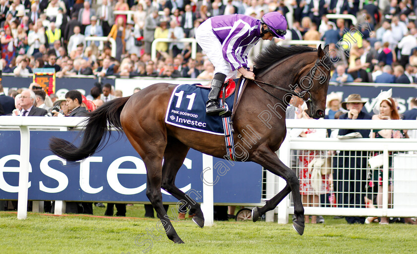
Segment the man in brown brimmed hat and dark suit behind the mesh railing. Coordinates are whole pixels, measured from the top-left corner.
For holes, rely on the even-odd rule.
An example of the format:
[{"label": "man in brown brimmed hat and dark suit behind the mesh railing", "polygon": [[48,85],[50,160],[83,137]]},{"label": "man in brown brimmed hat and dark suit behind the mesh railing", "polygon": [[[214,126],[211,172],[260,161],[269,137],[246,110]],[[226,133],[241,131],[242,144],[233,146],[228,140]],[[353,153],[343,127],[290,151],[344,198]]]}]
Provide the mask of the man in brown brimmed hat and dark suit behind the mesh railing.
[{"label": "man in brown brimmed hat and dark suit behind the mesh railing", "polygon": [[[371,119],[371,115],[362,111],[363,101],[359,94],[350,94],[342,102],[342,108],[348,110],[339,119]],[[369,137],[370,130],[341,129],[340,136],[359,132],[363,138]],[[339,207],[362,208],[364,206],[364,189],[366,184],[367,151],[340,151],[333,160],[334,188]],[[349,224],[365,222],[364,217],[347,216]]]}]

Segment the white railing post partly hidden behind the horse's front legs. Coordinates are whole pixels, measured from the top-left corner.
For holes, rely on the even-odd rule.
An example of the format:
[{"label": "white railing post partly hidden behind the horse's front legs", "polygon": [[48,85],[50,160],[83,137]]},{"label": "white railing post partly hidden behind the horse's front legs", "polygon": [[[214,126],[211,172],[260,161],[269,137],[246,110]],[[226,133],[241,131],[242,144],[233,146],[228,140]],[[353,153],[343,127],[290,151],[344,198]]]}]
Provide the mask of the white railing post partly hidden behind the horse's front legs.
[{"label": "white railing post partly hidden behind the horse's front legs", "polygon": [[[284,141],[279,148],[279,160],[288,167],[291,167],[291,153],[289,148],[289,130],[287,130]],[[285,180],[282,177],[278,178],[278,192],[281,191],[286,185]],[[286,224],[288,223],[288,206],[289,206],[289,195],[284,197],[282,201],[278,204],[278,223]]]}]

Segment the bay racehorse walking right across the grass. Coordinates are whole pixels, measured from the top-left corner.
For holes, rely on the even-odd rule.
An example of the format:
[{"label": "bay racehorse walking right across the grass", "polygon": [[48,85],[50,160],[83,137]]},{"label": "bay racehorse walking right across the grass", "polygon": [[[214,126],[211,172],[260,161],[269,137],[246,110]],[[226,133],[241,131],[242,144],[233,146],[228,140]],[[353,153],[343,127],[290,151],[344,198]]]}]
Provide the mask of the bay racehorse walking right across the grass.
[{"label": "bay racehorse walking right across the grass", "polygon": [[[304,208],[299,181],[296,173],[285,166],[275,152],[285,138],[285,109],[293,94],[307,102],[306,113],[310,117],[324,117],[331,67],[327,52],[328,46],[323,50],[321,46],[318,49],[269,46],[255,60],[256,81],[250,80],[246,84],[233,119],[234,140],[239,140],[238,137],[252,140],[248,143],[247,156],[240,160],[255,162],[287,182],[263,207],[254,208],[253,220],[257,221],[267,211],[273,210],[292,191],[296,216],[293,227],[300,235],[304,232]],[[50,149],[67,161],[80,161],[106,144],[108,126],[123,131],[146,166],[146,196],[167,237],[174,243],[183,243],[162,206],[161,188],[186,202],[184,205],[195,212],[194,222],[203,227],[200,204],[189,201],[191,199],[175,186],[175,177],[190,148],[223,158],[226,147],[222,136],[165,123],[168,101],[175,86],[164,83],[150,85],[129,97],[104,104],[89,114],[78,148],[63,139],[52,138]],[[265,110],[270,111],[268,119],[263,115]]]}]

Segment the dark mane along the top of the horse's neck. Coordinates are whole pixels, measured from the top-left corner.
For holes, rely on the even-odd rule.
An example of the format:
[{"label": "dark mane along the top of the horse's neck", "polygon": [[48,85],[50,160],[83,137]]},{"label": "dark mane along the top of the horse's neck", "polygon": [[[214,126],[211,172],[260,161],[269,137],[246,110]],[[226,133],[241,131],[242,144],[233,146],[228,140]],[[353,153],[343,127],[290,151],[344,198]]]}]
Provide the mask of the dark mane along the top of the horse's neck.
[{"label": "dark mane along the top of the horse's neck", "polygon": [[277,44],[271,44],[261,53],[259,53],[258,56],[256,56],[254,64],[256,65],[256,69],[262,70],[292,55],[314,51],[317,51],[317,49],[303,45],[282,47],[278,46]]}]

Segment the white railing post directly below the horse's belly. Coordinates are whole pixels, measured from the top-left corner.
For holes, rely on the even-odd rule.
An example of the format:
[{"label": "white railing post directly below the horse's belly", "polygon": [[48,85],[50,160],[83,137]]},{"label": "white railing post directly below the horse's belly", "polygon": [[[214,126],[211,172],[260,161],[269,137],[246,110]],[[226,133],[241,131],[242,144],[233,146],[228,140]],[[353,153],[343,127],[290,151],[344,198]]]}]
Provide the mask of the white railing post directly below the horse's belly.
[{"label": "white railing post directly below the horse's belly", "polygon": [[213,157],[203,154],[203,203],[201,209],[204,214],[204,226],[212,226],[214,223],[213,184]]}]

